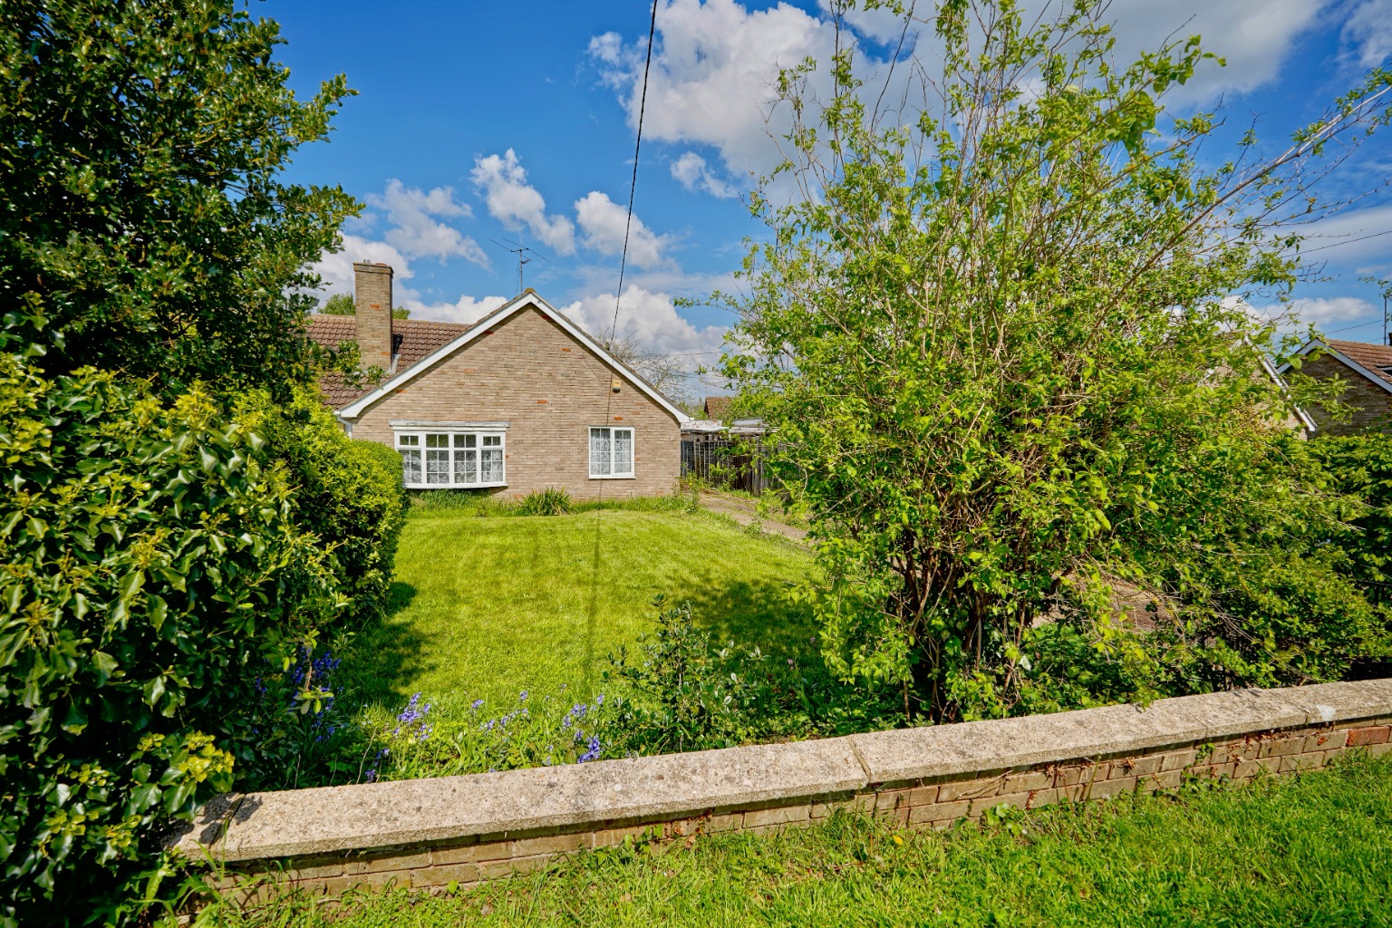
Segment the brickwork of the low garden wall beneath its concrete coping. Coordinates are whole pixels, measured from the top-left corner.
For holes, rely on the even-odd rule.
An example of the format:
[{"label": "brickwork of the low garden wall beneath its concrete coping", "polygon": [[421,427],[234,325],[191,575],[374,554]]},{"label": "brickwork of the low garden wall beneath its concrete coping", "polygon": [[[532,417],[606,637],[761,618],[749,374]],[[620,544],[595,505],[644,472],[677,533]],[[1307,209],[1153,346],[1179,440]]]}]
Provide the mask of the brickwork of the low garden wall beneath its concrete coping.
[{"label": "brickwork of the low garden wall beneath its concrete coping", "polygon": [[[232,872],[224,892],[244,904],[256,904],[291,886],[312,895],[338,895],[349,886],[406,886],[438,889],[450,883],[472,886],[484,879],[530,872],[580,850],[629,842],[667,842],[731,831],[764,833],[810,825],[832,814],[880,815],[913,828],[945,828],[1009,804],[1023,810],[1055,803],[1100,801],[1133,790],[1178,789],[1185,779],[1246,782],[1257,776],[1315,771],[1347,750],[1385,753],[1389,726],[1325,725],[1288,732],[1265,732],[1217,744],[1178,744],[1137,751],[1097,762],[1040,764],[990,776],[938,778],[935,782],[878,786],[853,794],[812,797],[796,803],[761,804],[746,810],[711,810],[696,818],[638,824],[596,824],[555,833],[555,829],[518,835],[486,835],[464,845],[409,847],[340,858],[315,857],[278,861],[262,871],[276,874],[274,886],[253,874]],[[1247,757],[1250,760],[1237,760]],[[249,882],[248,882],[249,881]]]}]

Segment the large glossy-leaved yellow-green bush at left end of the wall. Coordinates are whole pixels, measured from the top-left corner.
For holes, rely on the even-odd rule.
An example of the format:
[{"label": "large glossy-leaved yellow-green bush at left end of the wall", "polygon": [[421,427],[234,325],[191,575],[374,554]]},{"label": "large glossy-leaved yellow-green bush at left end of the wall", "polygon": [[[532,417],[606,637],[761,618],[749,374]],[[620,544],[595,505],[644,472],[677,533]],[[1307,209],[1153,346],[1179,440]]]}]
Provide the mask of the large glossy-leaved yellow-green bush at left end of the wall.
[{"label": "large glossy-leaved yellow-green bush at left end of the wall", "polygon": [[205,394],[0,348],[0,924],[121,921],[166,872],[159,826],[255,750],[230,711],[253,668],[344,602],[264,440]]}]

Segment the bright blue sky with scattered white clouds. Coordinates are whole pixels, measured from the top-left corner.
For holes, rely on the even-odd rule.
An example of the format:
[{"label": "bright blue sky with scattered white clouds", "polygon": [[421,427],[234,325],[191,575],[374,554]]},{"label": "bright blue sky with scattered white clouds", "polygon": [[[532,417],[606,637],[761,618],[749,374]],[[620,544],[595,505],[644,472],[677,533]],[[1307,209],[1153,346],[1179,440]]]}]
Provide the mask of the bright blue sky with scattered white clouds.
[{"label": "bright blue sky with scattered white clouds", "polygon": [[[528,264],[528,285],[592,331],[608,327],[646,3],[267,0],[251,10],[280,21],[280,58],[298,92],[340,71],[359,92],[331,142],[302,149],[290,171],[367,203],[345,230],[347,249],[320,264],[331,291],[349,289],[352,260],[383,260],[413,316],[470,321],[516,291],[515,257],[493,243],[512,239],[548,259]],[[1116,0],[1111,15],[1122,54],[1176,29],[1204,35],[1228,67],[1197,75],[1173,106],[1221,100],[1233,125],[1257,118],[1272,145],[1392,54],[1392,0]],[[749,173],[777,157],[761,111],[768,82],[780,64],[823,57],[831,31],[816,0],[660,0],[657,22],[619,330],[696,365],[717,358],[732,320],[672,301],[732,285],[742,239],[761,231],[741,195]],[[889,35],[883,18],[857,25],[871,49]],[[920,51],[931,54],[926,43]],[[1367,189],[1389,177],[1384,135],[1336,184]],[[1308,248],[1321,248],[1329,280],[1296,292],[1306,319],[1335,337],[1379,338],[1381,299],[1357,278],[1392,274],[1392,232],[1377,235],[1389,230],[1382,192],[1317,230]]]}]

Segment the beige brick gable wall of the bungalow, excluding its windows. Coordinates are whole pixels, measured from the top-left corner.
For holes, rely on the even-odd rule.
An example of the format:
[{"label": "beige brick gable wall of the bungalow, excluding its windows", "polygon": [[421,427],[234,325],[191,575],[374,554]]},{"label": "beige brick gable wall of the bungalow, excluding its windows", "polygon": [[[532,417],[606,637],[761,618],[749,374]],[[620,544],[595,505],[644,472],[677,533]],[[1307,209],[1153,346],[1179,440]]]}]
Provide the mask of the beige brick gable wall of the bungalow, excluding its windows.
[{"label": "beige brick gable wall of the bungalow, excluding its windows", "polygon": [[[610,383],[618,378],[619,392]],[[672,493],[681,426],[628,377],[528,307],[433,365],[354,422],[352,437],[395,447],[393,420],[508,422],[507,498],[560,487],[576,499]],[[633,480],[592,480],[590,426],[633,429]]]}]

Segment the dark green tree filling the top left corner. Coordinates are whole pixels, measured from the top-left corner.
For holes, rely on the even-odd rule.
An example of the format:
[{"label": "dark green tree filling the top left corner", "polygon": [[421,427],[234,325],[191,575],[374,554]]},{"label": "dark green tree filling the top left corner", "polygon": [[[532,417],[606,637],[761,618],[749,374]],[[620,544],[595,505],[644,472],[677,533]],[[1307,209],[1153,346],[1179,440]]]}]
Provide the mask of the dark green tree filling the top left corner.
[{"label": "dark green tree filling the top left corner", "polygon": [[351,90],[296,100],[280,42],[230,0],[0,8],[0,296],[67,333],[50,371],[170,394],[312,380],[305,267],[359,207],[277,178]]}]

